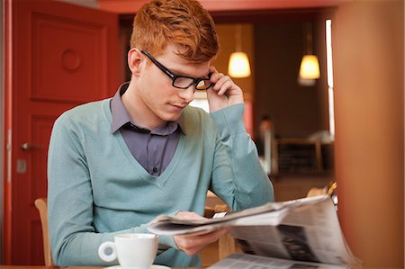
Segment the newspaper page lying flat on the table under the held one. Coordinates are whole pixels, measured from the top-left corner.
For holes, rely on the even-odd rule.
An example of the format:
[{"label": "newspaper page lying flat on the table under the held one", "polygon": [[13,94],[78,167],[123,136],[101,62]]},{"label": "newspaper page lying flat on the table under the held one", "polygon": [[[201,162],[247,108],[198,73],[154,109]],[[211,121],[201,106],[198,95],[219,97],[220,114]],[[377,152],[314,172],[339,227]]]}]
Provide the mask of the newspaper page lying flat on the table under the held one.
[{"label": "newspaper page lying flat on the table under the held one", "polygon": [[344,269],[346,265],[325,265],[292,260],[277,259],[266,256],[253,256],[235,253],[207,269]]}]

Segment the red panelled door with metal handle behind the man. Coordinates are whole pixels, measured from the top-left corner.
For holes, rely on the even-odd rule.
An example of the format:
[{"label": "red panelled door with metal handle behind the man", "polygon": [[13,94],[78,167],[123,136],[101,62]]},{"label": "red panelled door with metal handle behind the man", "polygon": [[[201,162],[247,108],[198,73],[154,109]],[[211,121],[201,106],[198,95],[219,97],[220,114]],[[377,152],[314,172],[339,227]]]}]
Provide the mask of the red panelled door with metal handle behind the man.
[{"label": "red panelled door with metal handle behind the man", "polygon": [[121,82],[118,15],[49,0],[6,0],[4,11],[3,263],[43,265],[33,202],[47,194],[50,130],[61,112]]}]

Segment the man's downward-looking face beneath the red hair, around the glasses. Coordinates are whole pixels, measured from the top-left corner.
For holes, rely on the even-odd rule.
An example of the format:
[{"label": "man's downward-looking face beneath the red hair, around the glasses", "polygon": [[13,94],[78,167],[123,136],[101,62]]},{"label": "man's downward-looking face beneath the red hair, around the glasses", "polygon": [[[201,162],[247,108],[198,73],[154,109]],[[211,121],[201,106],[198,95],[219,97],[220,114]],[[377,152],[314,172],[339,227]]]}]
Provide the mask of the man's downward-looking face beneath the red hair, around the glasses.
[{"label": "man's downward-looking face beneath the red hair, around the glasses", "polygon": [[[210,61],[190,63],[177,56],[177,48],[169,45],[163,54],[155,57],[157,61],[177,76],[202,78],[209,74]],[[173,80],[160,70],[146,55],[140,75],[137,95],[144,107],[145,116],[151,121],[175,121],[180,117],[188,103],[193,101],[194,85],[187,89],[175,88]],[[154,57],[152,55],[152,57]]]}]

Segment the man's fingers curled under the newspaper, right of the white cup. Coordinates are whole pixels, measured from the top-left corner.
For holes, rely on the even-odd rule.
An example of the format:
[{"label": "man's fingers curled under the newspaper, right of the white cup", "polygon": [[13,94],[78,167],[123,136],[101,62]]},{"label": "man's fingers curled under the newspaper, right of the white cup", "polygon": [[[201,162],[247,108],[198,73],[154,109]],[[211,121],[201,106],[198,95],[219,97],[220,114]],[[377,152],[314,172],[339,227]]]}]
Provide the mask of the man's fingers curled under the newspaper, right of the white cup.
[{"label": "man's fingers curled under the newspaper, right of the white cup", "polygon": [[174,236],[177,247],[184,251],[188,256],[193,256],[199,253],[202,248],[215,242],[218,238],[225,235],[229,229],[216,229],[205,234],[190,234],[182,236]]}]

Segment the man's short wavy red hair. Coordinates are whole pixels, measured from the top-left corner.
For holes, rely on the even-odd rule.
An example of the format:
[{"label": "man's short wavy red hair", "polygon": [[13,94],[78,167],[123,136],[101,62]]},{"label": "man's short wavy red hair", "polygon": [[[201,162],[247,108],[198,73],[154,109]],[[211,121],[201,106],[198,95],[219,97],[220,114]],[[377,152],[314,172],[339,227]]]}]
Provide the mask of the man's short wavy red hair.
[{"label": "man's short wavy red hair", "polygon": [[130,48],[160,55],[169,44],[194,63],[217,56],[220,49],[211,15],[196,0],[152,0],[135,15]]}]

